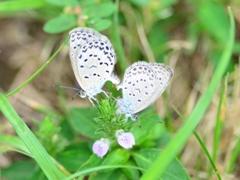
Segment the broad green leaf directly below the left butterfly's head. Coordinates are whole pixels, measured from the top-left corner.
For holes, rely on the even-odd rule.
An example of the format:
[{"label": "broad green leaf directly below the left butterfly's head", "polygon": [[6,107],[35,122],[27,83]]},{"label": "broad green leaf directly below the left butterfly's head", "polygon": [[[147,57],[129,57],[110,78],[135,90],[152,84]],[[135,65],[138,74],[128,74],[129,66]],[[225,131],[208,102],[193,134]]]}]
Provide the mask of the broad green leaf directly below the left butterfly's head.
[{"label": "broad green leaf directly below the left butterfly's head", "polygon": [[94,118],[97,117],[97,110],[93,108],[72,108],[70,109],[71,118],[70,121],[72,123],[73,128],[93,139],[99,139],[99,135],[95,134],[98,126],[94,121]]}]

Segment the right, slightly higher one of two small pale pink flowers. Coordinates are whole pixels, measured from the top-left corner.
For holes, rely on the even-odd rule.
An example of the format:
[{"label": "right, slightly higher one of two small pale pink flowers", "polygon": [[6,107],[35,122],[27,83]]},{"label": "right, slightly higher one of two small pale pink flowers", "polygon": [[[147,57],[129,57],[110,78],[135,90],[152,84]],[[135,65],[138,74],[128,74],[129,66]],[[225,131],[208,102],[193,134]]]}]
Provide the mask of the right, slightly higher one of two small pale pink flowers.
[{"label": "right, slightly higher one of two small pale pink flowers", "polygon": [[124,132],[122,129],[116,131],[117,141],[125,149],[132,148],[135,145],[135,139],[132,133]]}]

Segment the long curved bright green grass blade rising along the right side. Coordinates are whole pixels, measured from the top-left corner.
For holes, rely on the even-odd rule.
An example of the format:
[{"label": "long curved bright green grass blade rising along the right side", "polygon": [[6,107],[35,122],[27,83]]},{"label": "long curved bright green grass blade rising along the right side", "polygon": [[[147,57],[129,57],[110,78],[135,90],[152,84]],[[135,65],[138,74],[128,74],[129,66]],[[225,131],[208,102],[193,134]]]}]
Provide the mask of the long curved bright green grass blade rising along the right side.
[{"label": "long curved bright green grass blade rising along the right side", "polygon": [[219,60],[219,64],[216,68],[216,71],[212,77],[212,80],[204,92],[202,97],[199,99],[197,105],[193,109],[192,113],[188,117],[185,124],[181,127],[181,129],[176,134],[175,138],[173,138],[165,151],[156,159],[150,169],[142,176],[141,180],[148,179],[158,179],[166,170],[171,161],[176,157],[176,155],[181,151],[184,144],[188,140],[189,136],[192,134],[196,126],[199,124],[203,115],[205,114],[209,104],[211,103],[211,99],[214,95],[214,92],[222,79],[222,76],[226,70],[226,67],[230,61],[233,44],[234,44],[234,18],[232,12],[229,8],[230,14],[230,31],[229,38],[226,42],[226,47],[223,51],[221,59]]}]

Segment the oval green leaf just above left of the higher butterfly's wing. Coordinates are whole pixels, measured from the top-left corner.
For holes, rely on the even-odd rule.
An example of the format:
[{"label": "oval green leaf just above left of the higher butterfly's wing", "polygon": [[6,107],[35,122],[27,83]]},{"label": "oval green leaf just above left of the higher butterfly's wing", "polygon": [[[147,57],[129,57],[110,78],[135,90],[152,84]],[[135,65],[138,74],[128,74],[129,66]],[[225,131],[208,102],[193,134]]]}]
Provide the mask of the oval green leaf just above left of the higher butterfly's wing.
[{"label": "oval green leaf just above left of the higher butterfly's wing", "polygon": [[76,23],[77,17],[75,15],[64,14],[47,21],[43,26],[43,30],[50,34],[57,34],[74,28]]}]

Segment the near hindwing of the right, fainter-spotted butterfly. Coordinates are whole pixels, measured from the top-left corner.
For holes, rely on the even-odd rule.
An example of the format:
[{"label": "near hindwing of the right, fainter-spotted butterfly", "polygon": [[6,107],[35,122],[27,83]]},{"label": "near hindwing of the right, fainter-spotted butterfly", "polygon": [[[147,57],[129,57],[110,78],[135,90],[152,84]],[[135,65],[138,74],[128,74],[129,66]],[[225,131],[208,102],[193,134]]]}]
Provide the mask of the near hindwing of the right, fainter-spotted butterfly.
[{"label": "near hindwing of the right, fainter-spotted butterfly", "polygon": [[146,62],[136,62],[127,68],[123,82],[118,86],[122,89],[123,106],[120,112],[133,115],[152,104],[151,96],[156,88],[156,76]]}]

